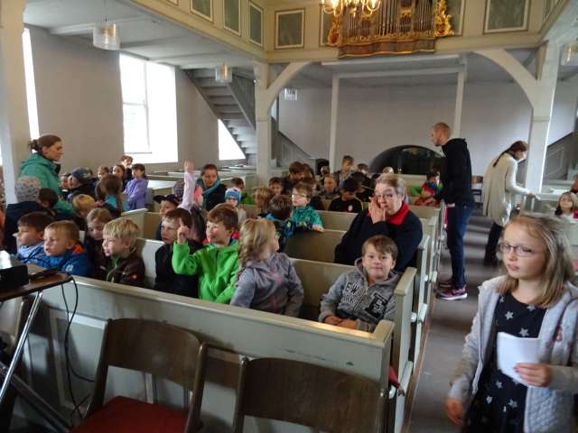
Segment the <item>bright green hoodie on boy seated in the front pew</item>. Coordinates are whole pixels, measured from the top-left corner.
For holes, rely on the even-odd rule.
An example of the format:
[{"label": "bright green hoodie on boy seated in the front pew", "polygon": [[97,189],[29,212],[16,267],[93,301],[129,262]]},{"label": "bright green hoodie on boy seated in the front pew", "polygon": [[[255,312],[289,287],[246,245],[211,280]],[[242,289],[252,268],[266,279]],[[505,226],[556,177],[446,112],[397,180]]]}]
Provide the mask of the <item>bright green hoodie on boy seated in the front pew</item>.
[{"label": "bright green hoodie on boy seated in the front pew", "polygon": [[181,275],[199,274],[199,298],[228,304],[235,293],[238,272],[238,243],[227,246],[206,244],[191,254],[189,244],[173,245],[172,269]]}]

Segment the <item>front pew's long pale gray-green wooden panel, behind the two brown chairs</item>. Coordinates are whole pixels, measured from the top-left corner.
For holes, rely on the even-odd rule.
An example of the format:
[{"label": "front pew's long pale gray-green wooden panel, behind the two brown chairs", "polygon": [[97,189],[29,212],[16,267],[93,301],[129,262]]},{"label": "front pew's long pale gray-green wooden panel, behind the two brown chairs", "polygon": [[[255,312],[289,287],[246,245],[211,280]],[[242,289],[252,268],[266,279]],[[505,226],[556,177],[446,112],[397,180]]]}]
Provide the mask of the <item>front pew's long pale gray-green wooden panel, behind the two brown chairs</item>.
[{"label": "front pew's long pale gray-green wooden panel, behind the two brown chairs", "polygon": [[[382,321],[374,333],[331,327],[300,318],[287,318],[250,309],[239,309],[199,299],[187,299],[120,284],[85,278],[76,279],[79,306],[70,328],[75,368],[92,377],[98,362],[102,331],[107,318],[150,318],[196,332],[211,345],[207,363],[201,418],[207,428],[230,431],[235,404],[240,355],[280,357],[358,373],[387,389],[387,370],[393,324]],[[72,283],[64,286],[67,299],[75,299]],[[45,314],[33,326],[33,342],[27,365],[35,378],[35,389],[52,401],[57,410],[70,411],[65,381],[65,357],[61,350],[66,312],[61,290],[47,290],[42,299]],[[111,394],[138,398],[147,388],[142,374],[109,372]],[[298,380],[298,378],[296,378]],[[73,381],[76,395],[90,392],[90,383]],[[107,387],[108,388],[108,387]],[[163,381],[154,381],[159,401],[182,407],[183,392]],[[107,389],[108,392],[108,389]],[[260,423],[247,420],[245,431],[263,431]],[[287,429],[267,423],[267,431]]]}]

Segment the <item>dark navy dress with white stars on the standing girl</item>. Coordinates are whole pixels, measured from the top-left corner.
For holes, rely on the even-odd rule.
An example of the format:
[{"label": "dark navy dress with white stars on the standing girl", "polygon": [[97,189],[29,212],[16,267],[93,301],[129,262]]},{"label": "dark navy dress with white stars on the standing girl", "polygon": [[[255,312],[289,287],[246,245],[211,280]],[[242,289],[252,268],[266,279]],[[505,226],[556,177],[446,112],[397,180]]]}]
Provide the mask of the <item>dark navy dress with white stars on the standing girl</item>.
[{"label": "dark navy dress with white stars on the standing girl", "polygon": [[[499,298],[494,320],[496,335],[536,338],[542,327],[545,309],[524,304],[509,292]],[[522,433],[527,386],[498,369],[496,340],[492,354],[480,377],[480,386],[465,417],[464,432]]]}]

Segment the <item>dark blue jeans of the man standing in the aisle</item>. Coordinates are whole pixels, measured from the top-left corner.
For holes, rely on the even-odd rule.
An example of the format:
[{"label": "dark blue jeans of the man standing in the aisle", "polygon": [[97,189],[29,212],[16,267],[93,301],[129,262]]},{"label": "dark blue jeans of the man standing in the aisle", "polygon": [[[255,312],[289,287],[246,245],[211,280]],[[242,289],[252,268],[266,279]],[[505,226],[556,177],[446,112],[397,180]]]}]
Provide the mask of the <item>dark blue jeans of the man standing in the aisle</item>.
[{"label": "dark blue jeans of the man standing in the aisle", "polygon": [[461,289],[466,281],[463,267],[463,235],[466,233],[468,221],[473,212],[473,203],[448,207],[447,242],[452,255],[452,284],[455,289]]}]

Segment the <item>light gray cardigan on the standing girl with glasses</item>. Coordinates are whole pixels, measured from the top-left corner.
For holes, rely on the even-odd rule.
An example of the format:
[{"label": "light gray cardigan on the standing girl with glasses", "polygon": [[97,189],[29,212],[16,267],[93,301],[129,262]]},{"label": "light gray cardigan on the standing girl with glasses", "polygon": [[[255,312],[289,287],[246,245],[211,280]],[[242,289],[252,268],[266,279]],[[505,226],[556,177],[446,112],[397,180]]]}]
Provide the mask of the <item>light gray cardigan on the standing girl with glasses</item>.
[{"label": "light gray cardigan on the standing girl with glasses", "polygon": [[[448,396],[460,400],[464,408],[478,392],[482,369],[491,354],[494,311],[504,278],[485,281],[480,287],[478,314],[466,336]],[[538,338],[539,359],[550,364],[552,381],[548,387],[528,387],[524,431],[571,432],[573,393],[578,392],[578,289],[572,284],[567,283],[562,298],[546,310]]]}]

